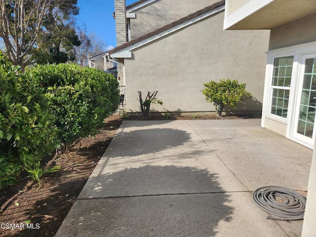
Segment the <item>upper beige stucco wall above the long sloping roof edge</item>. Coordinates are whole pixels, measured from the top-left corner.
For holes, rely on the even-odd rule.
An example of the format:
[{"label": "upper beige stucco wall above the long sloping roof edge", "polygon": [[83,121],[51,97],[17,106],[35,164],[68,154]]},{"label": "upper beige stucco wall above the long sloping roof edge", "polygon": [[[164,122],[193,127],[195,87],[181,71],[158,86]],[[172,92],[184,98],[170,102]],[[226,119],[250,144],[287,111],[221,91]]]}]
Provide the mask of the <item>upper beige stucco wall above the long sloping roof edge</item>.
[{"label": "upper beige stucco wall above the long sloping roof edge", "polygon": [[157,0],[135,11],[130,19],[130,39],[145,35],[173,21],[179,20],[218,0]]}]

